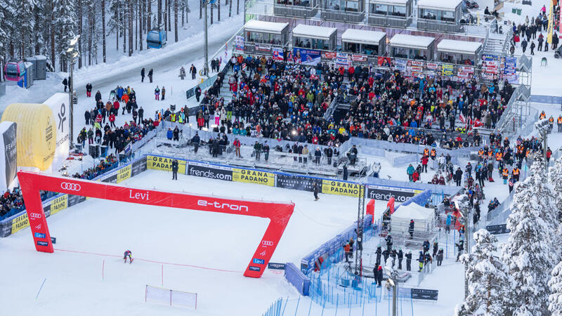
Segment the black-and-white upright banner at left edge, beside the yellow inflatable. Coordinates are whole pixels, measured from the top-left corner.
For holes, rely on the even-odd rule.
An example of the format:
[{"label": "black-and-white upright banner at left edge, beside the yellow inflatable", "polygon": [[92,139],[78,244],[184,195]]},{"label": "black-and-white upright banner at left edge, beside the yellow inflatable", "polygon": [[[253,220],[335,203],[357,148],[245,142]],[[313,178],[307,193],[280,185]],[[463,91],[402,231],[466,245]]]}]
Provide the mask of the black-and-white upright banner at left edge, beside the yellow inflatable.
[{"label": "black-and-white upright banner at left edge, beside the yellow inflatable", "polygon": [[15,132],[16,126],[14,122],[3,121],[0,123],[0,162],[4,162],[4,168],[0,167],[1,192],[5,192],[15,178],[16,166],[18,164]]}]

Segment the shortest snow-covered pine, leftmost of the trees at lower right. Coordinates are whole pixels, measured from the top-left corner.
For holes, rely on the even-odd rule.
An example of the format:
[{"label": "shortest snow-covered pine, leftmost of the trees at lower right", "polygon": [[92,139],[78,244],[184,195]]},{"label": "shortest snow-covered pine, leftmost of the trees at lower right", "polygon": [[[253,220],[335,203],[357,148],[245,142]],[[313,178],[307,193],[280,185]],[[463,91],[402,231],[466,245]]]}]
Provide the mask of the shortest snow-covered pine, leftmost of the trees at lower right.
[{"label": "shortest snow-covered pine, leftmost of the trees at lower right", "polygon": [[473,237],[476,244],[472,253],[462,256],[462,261],[468,263],[469,296],[457,305],[455,315],[469,316],[477,312],[485,312],[489,316],[506,315],[505,291],[509,285],[509,269],[495,256],[497,238],[483,229],[475,232]]}]

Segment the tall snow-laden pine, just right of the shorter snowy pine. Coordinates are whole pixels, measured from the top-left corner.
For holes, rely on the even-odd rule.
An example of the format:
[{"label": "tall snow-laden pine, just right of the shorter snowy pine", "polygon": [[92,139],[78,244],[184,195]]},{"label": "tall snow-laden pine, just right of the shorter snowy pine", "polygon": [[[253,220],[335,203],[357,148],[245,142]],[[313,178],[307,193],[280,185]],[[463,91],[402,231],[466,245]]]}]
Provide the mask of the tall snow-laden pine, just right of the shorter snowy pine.
[{"label": "tall snow-laden pine, just right of the shorter snowy pine", "polygon": [[[507,228],[511,231],[502,251],[502,261],[509,266],[512,288],[507,299],[516,316],[543,315],[549,297],[549,271],[556,261],[552,236],[554,198],[540,159],[531,167],[531,176],[515,188]],[[509,314],[509,313],[507,313]]]}]

